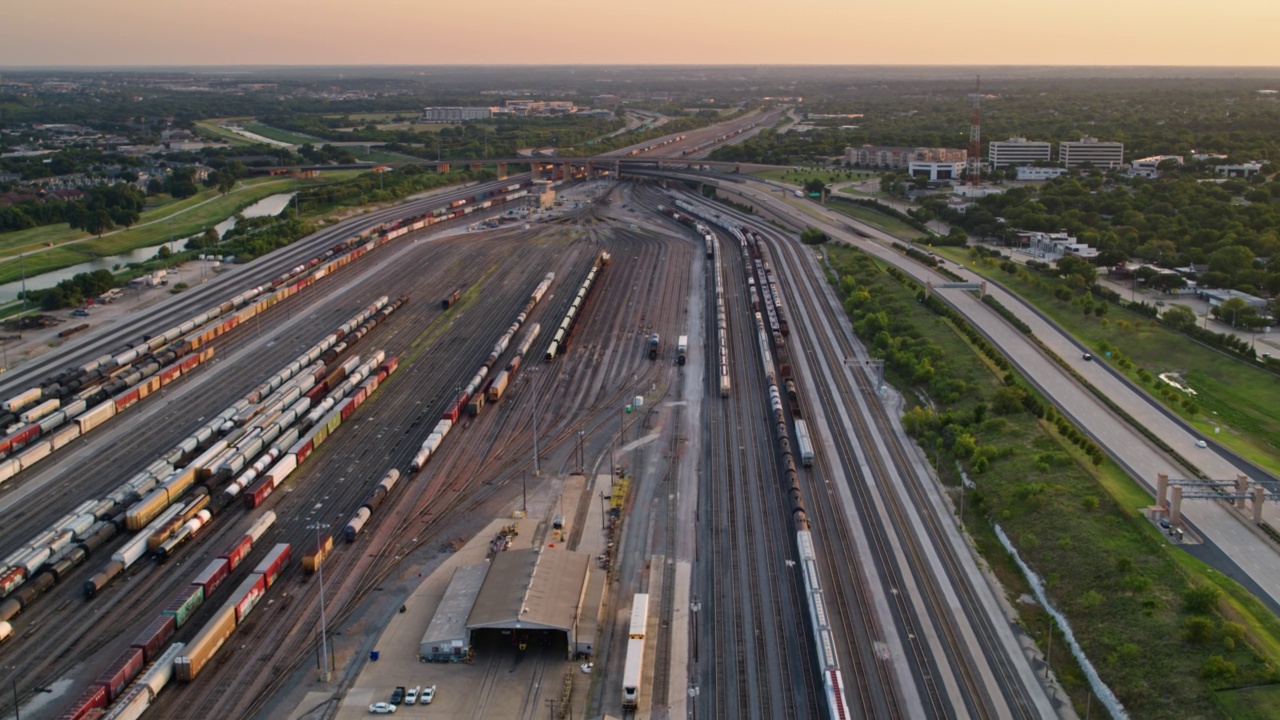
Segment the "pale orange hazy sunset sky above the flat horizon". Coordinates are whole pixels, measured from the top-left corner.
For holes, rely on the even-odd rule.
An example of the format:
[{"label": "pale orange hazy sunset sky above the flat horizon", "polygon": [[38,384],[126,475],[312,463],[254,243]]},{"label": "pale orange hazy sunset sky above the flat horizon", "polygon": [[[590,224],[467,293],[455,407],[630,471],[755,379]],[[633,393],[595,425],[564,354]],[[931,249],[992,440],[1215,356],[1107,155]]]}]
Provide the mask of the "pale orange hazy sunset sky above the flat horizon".
[{"label": "pale orange hazy sunset sky above the flat horizon", "polygon": [[0,0],[0,65],[1280,67],[1280,0]]}]

